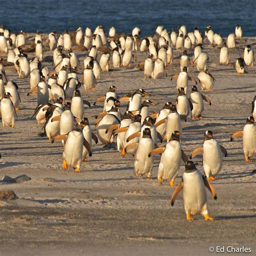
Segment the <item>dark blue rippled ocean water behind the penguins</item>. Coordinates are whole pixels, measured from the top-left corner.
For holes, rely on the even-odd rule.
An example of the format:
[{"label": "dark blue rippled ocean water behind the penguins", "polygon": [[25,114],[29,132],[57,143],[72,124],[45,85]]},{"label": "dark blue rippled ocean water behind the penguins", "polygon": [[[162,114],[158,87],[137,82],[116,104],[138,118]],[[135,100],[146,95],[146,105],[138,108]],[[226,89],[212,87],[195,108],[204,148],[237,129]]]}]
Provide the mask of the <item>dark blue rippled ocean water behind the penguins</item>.
[{"label": "dark blue rippled ocean water behind the penguins", "polygon": [[0,0],[0,24],[12,32],[103,25],[106,32],[114,26],[118,33],[127,33],[139,26],[142,36],[152,35],[158,25],[171,30],[183,24],[188,31],[211,25],[214,32],[227,36],[239,24],[243,36],[256,36],[255,8],[256,0]]}]

